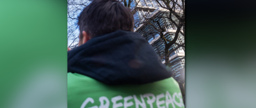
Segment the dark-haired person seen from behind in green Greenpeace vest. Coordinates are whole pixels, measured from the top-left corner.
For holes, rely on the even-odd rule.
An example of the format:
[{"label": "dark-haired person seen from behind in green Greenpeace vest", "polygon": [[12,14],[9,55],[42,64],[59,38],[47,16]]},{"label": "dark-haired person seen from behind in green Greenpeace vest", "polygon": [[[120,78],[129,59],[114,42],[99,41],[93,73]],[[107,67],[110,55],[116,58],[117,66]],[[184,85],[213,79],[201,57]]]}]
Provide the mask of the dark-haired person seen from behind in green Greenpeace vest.
[{"label": "dark-haired person seen from behind in green Greenpeace vest", "polygon": [[68,108],[183,108],[179,84],[129,8],[93,0],[78,17],[79,46],[68,51]]}]

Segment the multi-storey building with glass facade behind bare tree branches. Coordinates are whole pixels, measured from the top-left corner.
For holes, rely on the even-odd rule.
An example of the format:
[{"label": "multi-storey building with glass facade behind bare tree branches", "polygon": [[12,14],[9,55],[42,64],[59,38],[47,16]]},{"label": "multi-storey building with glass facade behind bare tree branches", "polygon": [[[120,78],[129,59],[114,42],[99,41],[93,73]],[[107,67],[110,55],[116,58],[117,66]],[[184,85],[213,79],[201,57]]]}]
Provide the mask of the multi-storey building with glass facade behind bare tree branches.
[{"label": "multi-storey building with glass facade behind bare tree branches", "polygon": [[[157,4],[155,0],[134,0],[134,2],[138,3],[136,8],[132,10],[132,13],[134,13],[135,22],[134,32],[140,33],[141,36],[143,36],[148,41],[148,43],[153,46],[157,55],[162,58],[162,62],[163,64],[165,64],[164,41],[160,38],[159,34],[157,34],[157,32],[159,32],[157,29],[159,29],[159,27],[164,28],[166,30],[165,32],[163,32],[164,37],[172,41],[175,36],[176,30],[175,25],[173,25],[170,20],[168,20],[169,11],[161,8],[161,6],[159,6],[159,4]],[[162,6],[164,6],[164,3],[162,1],[160,1],[160,3],[162,4]],[[157,22],[153,22],[152,20],[147,19],[157,20],[159,21],[159,24],[157,24]],[[173,19],[175,19],[175,17],[173,17]],[[184,36],[179,34],[176,43],[185,43]],[[175,48],[177,48],[177,45],[173,44],[170,47],[169,51]],[[184,50],[184,47],[180,47],[170,54],[170,67],[175,74],[173,76],[174,78],[184,77],[180,76],[184,75],[181,74],[182,72],[184,72],[185,65]]]}]

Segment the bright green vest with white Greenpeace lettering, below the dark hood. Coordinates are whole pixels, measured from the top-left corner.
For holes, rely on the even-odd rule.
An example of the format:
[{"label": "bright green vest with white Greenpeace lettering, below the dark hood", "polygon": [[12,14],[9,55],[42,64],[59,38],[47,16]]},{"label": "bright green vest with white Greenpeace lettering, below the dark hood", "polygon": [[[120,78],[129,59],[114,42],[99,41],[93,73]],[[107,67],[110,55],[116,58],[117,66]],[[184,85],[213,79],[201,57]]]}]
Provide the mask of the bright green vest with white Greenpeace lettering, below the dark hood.
[{"label": "bright green vest with white Greenpeace lettering, below the dark hood", "polygon": [[154,83],[111,86],[68,72],[68,108],[184,108],[173,78]]}]

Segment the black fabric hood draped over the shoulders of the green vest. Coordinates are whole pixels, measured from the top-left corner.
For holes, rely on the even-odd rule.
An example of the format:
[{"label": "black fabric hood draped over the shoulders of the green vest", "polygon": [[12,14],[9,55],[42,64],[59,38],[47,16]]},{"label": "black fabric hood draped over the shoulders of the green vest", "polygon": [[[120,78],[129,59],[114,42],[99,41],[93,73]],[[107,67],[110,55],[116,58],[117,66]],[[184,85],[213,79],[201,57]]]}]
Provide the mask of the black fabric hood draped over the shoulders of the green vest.
[{"label": "black fabric hood draped over the shoulders of the green vest", "polygon": [[170,78],[154,49],[136,32],[116,30],[68,51],[68,72],[105,84],[146,84]]}]

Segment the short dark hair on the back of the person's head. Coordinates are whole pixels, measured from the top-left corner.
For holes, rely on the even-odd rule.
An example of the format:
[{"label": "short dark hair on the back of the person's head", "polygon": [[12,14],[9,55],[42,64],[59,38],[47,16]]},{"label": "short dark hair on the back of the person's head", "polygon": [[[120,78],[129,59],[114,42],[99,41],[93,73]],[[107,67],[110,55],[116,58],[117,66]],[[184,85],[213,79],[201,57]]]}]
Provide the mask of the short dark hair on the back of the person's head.
[{"label": "short dark hair on the back of the person's head", "polygon": [[116,30],[133,32],[134,19],[131,10],[120,1],[93,0],[77,18],[80,34],[84,30],[91,37]]}]

